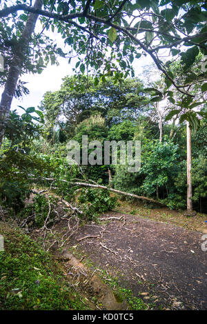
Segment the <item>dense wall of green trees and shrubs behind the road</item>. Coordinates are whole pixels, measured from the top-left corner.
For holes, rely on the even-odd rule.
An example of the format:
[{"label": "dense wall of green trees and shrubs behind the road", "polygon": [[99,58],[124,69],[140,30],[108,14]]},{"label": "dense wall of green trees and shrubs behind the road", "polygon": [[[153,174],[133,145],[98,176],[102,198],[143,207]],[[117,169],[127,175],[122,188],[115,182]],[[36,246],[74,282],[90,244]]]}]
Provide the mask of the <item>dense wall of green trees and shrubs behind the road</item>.
[{"label": "dense wall of green trees and shrubs behind the road", "polygon": [[[83,88],[87,80],[89,88]],[[63,80],[61,90],[45,94],[41,112],[36,111],[39,117],[33,117],[34,108],[28,108],[21,117],[15,111],[10,114],[6,139],[1,148],[3,204],[14,206],[16,212],[21,211],[23,201],[30,195],[35,183],[40,187],[49,186],[68,201],[76,201],[85,216],[91,218],[97,216],[98,212],[114,208],[114,198],[104,190],[79,189],[71,181],[80,179],[82,182],[108,185],[110,170],[110,185],[115,189],[162,200],[170,208],[185,209],[184,124],[168,124],[164,121],[168,108],[164,110],[160,141],[156,105],[150,101],[148,92],[144,92],[141,81],[128,79],[113,85],[112,80],[108,79],[106,83],[100,83],[98,88],[95,88],[94,82],[92,77],[67,77]],[[53,100],[51,96],[54,96]],[[205,111],[205,105],[202,109]],[[113,110],[117,112],[117,118],[110,118]],[[71,117],[73,112],[79,116],[76,120]],[[64,116],[68,118],[62,118]],[[199,130],[192,137],[193,203],[196,210],[206,212],[206,119],[200,123]],[[140,140],[141,169],[129,173],[128,165],[68,165],[67,143],[70,139],[78,141],[82,150],[83,135],[88,136],[88,142],[98,140],[102,145],[104,141],[126,143]],[[92,149],[88,150],[88,154],[90,152]],[[37,213],[42,216],[37,223],[41,226],[48,207],[41,202],[45,208],[43,212],[41,205],[38,207],[38,199],[34,205],[37,210],[40,208]]]}]

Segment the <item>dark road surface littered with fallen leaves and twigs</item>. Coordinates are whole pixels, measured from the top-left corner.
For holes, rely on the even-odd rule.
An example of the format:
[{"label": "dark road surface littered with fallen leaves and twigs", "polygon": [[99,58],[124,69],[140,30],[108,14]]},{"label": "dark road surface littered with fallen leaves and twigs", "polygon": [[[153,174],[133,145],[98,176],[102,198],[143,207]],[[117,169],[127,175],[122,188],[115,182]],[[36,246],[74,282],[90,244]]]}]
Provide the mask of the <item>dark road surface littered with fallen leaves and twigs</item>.
[{"label": "dark road surface littered with fallen leaves and twigs", "polygon": [[155,309],[207,309],[204,234],[117,212],[101,217],[108,221],[84,225],[70,246]]}]

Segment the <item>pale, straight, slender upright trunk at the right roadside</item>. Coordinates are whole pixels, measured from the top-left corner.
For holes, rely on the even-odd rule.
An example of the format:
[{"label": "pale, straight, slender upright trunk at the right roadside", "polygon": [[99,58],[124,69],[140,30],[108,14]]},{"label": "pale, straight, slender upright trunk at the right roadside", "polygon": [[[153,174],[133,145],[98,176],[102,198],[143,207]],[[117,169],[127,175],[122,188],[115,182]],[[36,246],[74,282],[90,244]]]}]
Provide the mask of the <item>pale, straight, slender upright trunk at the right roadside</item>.
[{"label": "pale, straight, slender upright trunk at the right roadside", "polygon": [[192,202],[192,183],[191,183],[191,167],[192,167],[192,156],[191,156],[191,132],[189,122],[186,123],[187,130],[187,210],[193,210]]}]

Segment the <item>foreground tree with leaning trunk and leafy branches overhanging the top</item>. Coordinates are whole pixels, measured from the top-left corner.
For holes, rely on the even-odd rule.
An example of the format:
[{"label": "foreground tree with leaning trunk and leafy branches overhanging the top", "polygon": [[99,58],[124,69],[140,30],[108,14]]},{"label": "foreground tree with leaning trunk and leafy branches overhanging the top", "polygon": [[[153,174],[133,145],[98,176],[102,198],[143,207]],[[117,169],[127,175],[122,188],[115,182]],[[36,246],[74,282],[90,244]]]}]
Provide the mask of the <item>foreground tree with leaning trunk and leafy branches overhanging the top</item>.
[{"label": "foreground tree with leaning trunk and leafy branches overhanging the top", "polygon": [[[33,6],[24,1],[8,6],[5,0],[3,5],[0,10],[3,21],[1,30],[5,21],[7,25],[13,19],[17,22],[14,26],[17,50],[10,61],[1,99],[0,145],[26,49],[32,42],[38,17],[43,30],[57,30],[65,43],[79,54],[76,68],[79,67],[81,72],[95,70],[103,80],[108,75],[117,80],[127,77],[132,61],[148,54],[166,76],[166,83],[174,85],[182,94],[188,94],[186,85],[175,81],[168,62],[162,59],[162,52],[169,50],[188,65],[195,61],[199,50],[206,54],[206,1],[136,0],[132,3],[128,0],[72,0],[68,3],[46,0],[42,5],[41,0],[36,0]],[[27,16],[27,13],[30,14]],[[26,24],[22,28],[24,21]],[[42,41],[43,30],[37,38],[39,42]],[[4,43],[10,43],[12,39],[6,37]],[[185,46],[188,48],[186,52],[183,50]],[[120,68],[124,72],[120,72]]]}]

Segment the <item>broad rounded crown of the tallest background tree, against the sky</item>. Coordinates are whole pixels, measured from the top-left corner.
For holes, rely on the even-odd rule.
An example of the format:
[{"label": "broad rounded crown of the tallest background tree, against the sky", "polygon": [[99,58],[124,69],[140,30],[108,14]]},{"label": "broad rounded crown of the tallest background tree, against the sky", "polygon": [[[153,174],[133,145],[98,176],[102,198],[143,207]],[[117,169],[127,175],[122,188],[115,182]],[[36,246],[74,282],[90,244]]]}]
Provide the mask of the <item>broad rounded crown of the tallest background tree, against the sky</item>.
[{"label": "broad rounded crown of the tallest background tree, against the sky", "polygon": [[61,89],[46,92],[41,102],[48,127],[66,121],[71,131],[84,119],[101,114],[106,124],[120,123],[124,119],[136,119],[148,109],[149,98],[139,79],[126,79],[113,83],[106,78],[95,85],[95,79],[86,75],[74,75],[63,79]]}]

